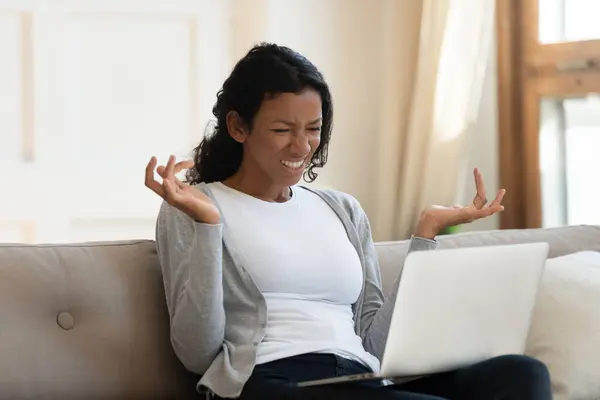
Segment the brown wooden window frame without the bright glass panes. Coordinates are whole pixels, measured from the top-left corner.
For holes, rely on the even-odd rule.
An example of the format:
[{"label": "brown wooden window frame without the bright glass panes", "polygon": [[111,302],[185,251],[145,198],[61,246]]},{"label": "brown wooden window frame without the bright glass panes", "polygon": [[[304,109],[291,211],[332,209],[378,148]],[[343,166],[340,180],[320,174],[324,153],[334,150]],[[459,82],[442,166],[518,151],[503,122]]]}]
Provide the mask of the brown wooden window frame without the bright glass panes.
[{"label": "brown wooden window frame without the bright glass panes", "polygon": [[496,1],[501,229],[542,227],[542,98],[600,93],[600,40],[540,43],[538,1]]}]

